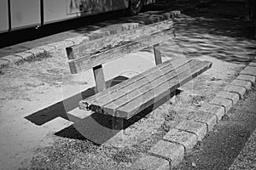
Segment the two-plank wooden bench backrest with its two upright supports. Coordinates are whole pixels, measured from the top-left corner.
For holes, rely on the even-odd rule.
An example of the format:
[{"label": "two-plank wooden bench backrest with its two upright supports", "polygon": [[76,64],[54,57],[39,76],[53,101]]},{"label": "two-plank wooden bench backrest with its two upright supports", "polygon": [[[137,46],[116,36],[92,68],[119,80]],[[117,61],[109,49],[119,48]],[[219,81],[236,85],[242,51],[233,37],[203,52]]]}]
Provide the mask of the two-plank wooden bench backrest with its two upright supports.
[{"label": "two-plank wooden bench backrest with its two upright supports", "polygon": [[66,48],[71,73],[93,69],[96,93],[106,89],[102,64],[123,57],[125,54],[154,46],[156,65],[160,64],[160,52],[155,48],[160,42],[174,37],[173,21],[164,20],[148,26]]}]

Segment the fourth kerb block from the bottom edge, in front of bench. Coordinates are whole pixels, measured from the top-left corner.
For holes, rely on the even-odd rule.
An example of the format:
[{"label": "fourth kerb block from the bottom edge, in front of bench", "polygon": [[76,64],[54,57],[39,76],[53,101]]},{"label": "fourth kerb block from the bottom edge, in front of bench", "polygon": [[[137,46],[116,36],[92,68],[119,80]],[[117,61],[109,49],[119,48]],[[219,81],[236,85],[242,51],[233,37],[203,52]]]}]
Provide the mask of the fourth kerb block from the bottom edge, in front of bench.
[{"label": "fourth kerb block from the bottom edge, in front of bench", "polygon": [[195,133],[199,141],[201,141],[207,134],[207,125],[202,122],[195,122],[191,120],[184,121],[179,123],[175,128],[189,133]]}]

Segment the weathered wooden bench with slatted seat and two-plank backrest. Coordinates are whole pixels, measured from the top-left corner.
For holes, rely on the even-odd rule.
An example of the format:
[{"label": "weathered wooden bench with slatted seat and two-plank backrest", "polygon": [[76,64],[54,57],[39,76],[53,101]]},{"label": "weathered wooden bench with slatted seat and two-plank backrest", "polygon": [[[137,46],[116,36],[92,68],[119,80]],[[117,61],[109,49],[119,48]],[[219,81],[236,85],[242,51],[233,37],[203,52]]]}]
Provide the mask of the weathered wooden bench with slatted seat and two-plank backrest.
[{"label": "weathered wooden bench with slatted seat and two-plank backrest", "polygon": [[[67,48],[71,72],[93,69],[95,76],[96,94],[80,101],[80,109],[129,119],[162,99],[167,101],[177,88],[212,66],[211,62],[177,57],[162,62],[160,42],[173,37],[173,22],[165,20]],[[104,63],[150,46],[154,48],[154,68],[106,88]]]}]

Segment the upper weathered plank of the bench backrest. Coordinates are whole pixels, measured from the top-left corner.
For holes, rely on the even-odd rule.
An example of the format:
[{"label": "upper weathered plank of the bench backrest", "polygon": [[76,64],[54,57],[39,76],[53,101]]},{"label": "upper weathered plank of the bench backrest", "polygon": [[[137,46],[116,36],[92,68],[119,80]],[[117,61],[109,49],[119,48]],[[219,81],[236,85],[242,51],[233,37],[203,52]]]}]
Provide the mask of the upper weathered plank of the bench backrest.
[{"label": "upper weathered plank of the bench backrest", "polygon": [[66,48],[68,59],[77,59],[86,55],[102,52],[108,48],[113,48],[123,42],[131,42],[139,37],[149,36],[156,32],[170,29],[173,20],[164,20],[148,26],[142,26],[131,31],[124,31],[108,37],[102,37],[93,41],[84,41],[79,45]]}]

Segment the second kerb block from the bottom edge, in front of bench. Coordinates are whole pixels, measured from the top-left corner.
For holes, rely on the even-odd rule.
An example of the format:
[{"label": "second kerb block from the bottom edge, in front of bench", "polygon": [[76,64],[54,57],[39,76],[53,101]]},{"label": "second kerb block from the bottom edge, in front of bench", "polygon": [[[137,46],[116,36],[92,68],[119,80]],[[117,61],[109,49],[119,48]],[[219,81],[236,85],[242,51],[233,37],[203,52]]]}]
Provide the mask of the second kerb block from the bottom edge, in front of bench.
[{"label": "second kerb block from the bottom edge, in front of bench", "polygon": [[172,167],[175,167],[180,161],[183,160],[184,147],[181,144],[174,144],[160,140],[157,144],[150,148],[150,150],[148,150],[148,153],[170,160]]}]

